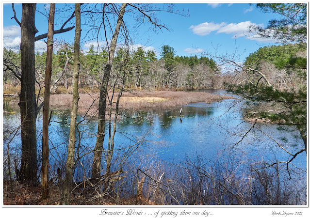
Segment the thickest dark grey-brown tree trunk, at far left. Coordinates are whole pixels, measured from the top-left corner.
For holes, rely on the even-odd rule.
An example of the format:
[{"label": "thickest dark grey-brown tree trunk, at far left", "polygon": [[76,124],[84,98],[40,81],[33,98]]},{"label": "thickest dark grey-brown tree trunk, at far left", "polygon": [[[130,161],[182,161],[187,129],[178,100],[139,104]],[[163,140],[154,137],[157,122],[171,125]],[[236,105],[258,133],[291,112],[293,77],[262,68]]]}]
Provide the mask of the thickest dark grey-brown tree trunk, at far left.
[{"label": "thickest dark grey-brown tree trunk, at far left", "polygon": [[21,117],[21,166],[23,183],[37,182],[36,102],[35,102],[35,56],[34,25],[36,4],[22,4],[21,16],[21,88],[19,97]]}]

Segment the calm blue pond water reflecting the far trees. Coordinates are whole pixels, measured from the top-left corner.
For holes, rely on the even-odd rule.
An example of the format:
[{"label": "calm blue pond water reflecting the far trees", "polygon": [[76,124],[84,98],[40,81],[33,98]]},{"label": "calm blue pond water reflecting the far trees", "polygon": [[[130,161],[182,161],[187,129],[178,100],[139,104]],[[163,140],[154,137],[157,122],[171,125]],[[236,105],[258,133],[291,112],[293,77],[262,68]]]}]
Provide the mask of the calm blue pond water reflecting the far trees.
[{"label": "calm blue pond water reflecting the far trees", "polygon": [[[205,90],[225,94],[225,91]],[[149,109],[132,114],[124,114],[117,123],[115,147],[124,148],[134,145],[145,136],[145,146],[134,152],[135,155],[153,156],[164,161],[179,161],[185,158],[195,158],[203,155],[210,160],[224,158],[229,151],[234,151],[237,158],[250,161],[264,160],[272,162],[289,160],[290,156],[277,146],[290,144],[290,152],[300,150],[303,142],[298,133],[278,130],[277,125],[256,124],[240,142],[252,124],[242,120],[242,106],[229,109],[237,100],[223,100],[212,104],[196,103],[179,106],[174,109]],[[183,112],[180,116],[179,109]],[[228,110],[229,109],[229,110]],[[49,127],[50,154],[55,160],[65,159],[68,143],[70,111],[56,111]],[[20,115],[6,113],[3,116],[4,125],[19,125]],[[78,117],[81,134],[80,153],[90,152],[94,148],[97,135],[96,120],[83,120]],[[41,146],[42,117],[38,121],[38,149]],[[83,131],[82,131],[83,130]],[[77,132],[78,133],[78,132]],[[146,135],[147,134],[147,135]],[[106,134],[107,135],[107,134]],[[105,144],[107,142],[105,139]],[[275,142],[277,141],[277,143]],[[12,141],[12,146],[20,147],[19,137]],[[233,149],[232,149],[233,148]],[[18,155],[18,154],[17,154]],[[57,162],[57,161],[56,161]],[[302,153],[294,159],[297,167],[306,168],[306,154]]]}]

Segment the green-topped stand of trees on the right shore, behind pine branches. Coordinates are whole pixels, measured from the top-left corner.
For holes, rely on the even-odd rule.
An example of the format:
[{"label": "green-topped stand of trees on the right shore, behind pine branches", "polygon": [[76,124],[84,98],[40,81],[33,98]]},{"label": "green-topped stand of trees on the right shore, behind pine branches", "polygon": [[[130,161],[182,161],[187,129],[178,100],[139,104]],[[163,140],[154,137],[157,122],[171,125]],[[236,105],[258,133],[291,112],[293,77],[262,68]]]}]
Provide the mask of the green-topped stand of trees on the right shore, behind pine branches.
[{"label": "green-topped stand of trees on the right shore, behind pine branches", "polygon": [[261,47],[245,59],[242,75],[252,82],[264,75],[279,90],[300,89],[307,81],[306,51],[304,44]]}]

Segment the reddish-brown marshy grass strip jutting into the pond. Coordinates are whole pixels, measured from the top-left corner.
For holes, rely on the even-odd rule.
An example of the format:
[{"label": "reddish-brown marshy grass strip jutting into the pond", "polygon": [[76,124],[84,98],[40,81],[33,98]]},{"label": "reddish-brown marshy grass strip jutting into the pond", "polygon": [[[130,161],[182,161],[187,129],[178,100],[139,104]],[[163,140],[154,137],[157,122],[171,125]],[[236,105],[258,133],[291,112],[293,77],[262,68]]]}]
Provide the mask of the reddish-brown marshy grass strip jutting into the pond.
[{"label": "reddish-brown marshy grass strip jutting into the pond", "polygon": [[[109,93],[107,103],[112,97]],[[117,93],[114,93],[113,102]],[[120,99],[120,108],[138,111],[148,108],[173,108],[197,102],[212,103],[223,99],[232,99],[229,95],[220,95],[206,92],[175,92],[175,91],[133,91],[123,93]],[[98,111],[99,93],[81,93],[79,100],[79,113],[96,115]],[[50,96],[51,109],[71,109],[72,94],[53,94]]]}]

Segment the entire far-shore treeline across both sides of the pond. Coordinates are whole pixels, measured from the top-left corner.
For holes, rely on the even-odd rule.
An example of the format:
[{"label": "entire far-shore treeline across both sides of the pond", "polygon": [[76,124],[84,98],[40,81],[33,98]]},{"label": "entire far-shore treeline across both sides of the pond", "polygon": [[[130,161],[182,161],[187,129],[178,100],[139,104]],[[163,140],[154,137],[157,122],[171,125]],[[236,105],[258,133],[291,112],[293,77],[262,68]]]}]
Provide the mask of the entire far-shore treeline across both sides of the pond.
[{"label": "entire far-shore treeline across both sides of the pond", "polygon": [[[126,67],[121,66],[125,57],[129,59]],[[98,91],[103,67],[108,60],[107,49],[97,50],[92,45],[89,51],[81,51],[80,59],[80,88]],[[45,61],[46,52],[37,52],[35,71],[38,90],[44,83]],[[138,47],[130,54],[118,48],[114,61],[111,79],[121,66],[122,70],[127,71],[125,87],[148,90],[225,88],[225,84],[245,81],[253,70],[260,70],[275,88],[289,89],[305,83],[307,67],[306,49],[300,44],[261,47],[246,57],[241,73],[236,71],[233,74],[221,72],[212,58],[176,56],[174,48],[170,46],[162,47],[160,57],[154,51],[145,51],[143,47]],[[4,48],[3,62],[4,85],[10,84],[11,88],[18,86],[16,77],[20,75],[13,74],[9,68],[20,73],[20,52]],[[53,55],[52,92],[71,93],[72,64],[73,47],[65,43]],[[251,76],[251,79],[254,81],[257,78]]]}]

